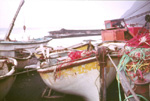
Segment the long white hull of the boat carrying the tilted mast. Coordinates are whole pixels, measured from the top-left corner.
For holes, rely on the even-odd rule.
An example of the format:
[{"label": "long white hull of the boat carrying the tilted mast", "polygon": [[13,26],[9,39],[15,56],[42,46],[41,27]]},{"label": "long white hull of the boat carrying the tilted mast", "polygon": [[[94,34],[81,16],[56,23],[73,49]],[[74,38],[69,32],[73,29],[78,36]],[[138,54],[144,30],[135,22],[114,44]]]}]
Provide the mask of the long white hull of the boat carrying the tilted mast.
[{"label": "long white hull of the boat carrying the tilted mast", "polygon": [[0,41],[0,55],[15,57],[15,49],[26,49],[35,52],[35,48],[39,47],[41,44],[46,45],[51,39],[41,39],[34,41]]}]

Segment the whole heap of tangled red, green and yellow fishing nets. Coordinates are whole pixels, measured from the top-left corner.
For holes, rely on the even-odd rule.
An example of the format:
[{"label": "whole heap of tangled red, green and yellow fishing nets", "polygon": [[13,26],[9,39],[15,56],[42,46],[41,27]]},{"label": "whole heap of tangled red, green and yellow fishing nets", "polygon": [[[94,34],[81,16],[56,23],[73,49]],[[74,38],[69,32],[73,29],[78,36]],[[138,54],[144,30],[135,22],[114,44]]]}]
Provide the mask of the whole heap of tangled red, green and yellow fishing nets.
[{"label": "whole heap of tangled red, green and yellow fishing nets", "polygon": [[[146,82],[145,75],[150,73],[150,33],[137,34],[134,38],[126,42],[123,56],[118,64],[118,69],[124,71],[130,81],[136,83],[137,80]],[[117,75],[119,81],[119,75]],[[120,88],[118,82],[118,89]],[[131,82],[130,82],[131,83]],[[120,90],[119,90],[120,91]],[[121,94],[120,101],[121,101]],[[147,100],[148,101],[148,100]]]}]

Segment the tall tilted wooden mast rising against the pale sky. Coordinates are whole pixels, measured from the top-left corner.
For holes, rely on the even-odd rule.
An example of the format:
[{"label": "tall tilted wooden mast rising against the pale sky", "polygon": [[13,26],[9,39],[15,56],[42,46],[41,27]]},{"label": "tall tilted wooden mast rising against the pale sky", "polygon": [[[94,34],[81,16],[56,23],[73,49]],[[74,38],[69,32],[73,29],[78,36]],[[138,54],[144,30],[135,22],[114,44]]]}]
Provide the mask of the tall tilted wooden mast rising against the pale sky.
[{"label": "tall tilted wooden mast rising against the pale sky", "polygon": [[10,24],[8,33],[7,33],[6,36],[5,36],[5,39],[4,39],[5,41],[10,41],[9,36],[10,36],[10,34],[11,34],[11,31],[12,31],[12,29],[13,29],[13,27],[14,27],[15,20],[16,20],[18,14],[19,14],[19,11],[20,11],[22,5],[24,4],[24,2],[25,2],[24,0],[22,0],[22,1],[20,2],[20,5],[19,5],[19,7],[18,7],[18,9],[17,9],[17,12],[16,12],[16,14],[15,14],[15,16],[14,16],[14,18],[13,18],[13,21],[12,21],[12,23]]}]

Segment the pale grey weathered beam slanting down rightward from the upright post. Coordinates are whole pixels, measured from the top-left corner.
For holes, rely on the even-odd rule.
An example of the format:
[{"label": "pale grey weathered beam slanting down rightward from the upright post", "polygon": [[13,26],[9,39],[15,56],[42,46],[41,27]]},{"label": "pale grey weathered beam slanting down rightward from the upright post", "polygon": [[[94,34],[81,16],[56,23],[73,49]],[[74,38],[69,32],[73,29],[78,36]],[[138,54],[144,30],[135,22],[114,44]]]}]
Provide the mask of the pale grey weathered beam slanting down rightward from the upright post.
[{"label": "pale grey weathered beam slanting down rightward from the upright post", "polygon": [[111,59],[110,55],[107,54],[108,58],[110,59],[110,61],[112,62],[112,64],[114,65],[117,73],[119,74],[119,77],[120,77],[120,81],[121,81],[121,84],[122,84],[122,87],[124,89],[129,89],[129,91],[131,92],[131,94],[133,95],[135,101],[140,101],[139,98],[136,96],[135,92],[132,90],[132,88],[130,87],[125,75],[123,75],[117,68],[116,64],[113,62],[113,60]]}]

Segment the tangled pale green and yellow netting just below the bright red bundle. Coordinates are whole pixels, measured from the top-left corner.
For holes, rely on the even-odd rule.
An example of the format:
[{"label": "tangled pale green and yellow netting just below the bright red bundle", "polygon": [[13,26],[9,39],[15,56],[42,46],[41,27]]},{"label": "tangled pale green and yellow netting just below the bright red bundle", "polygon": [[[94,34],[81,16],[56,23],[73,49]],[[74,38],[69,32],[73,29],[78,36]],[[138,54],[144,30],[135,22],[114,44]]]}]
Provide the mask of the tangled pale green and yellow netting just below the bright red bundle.
[{"label": "tangled pale green and yellow netting just below the bright red bundle", "polygon": [[125,47],[124,55],[118,65],[120,70],[142,74],[150,72],[150,48]]}]

